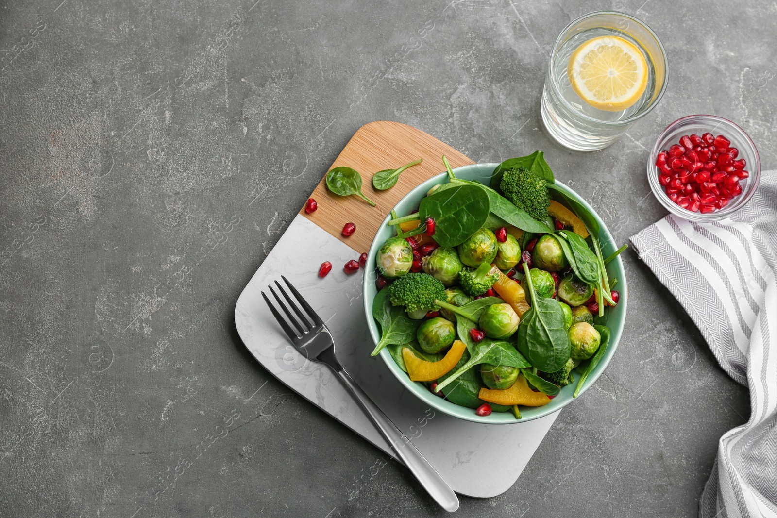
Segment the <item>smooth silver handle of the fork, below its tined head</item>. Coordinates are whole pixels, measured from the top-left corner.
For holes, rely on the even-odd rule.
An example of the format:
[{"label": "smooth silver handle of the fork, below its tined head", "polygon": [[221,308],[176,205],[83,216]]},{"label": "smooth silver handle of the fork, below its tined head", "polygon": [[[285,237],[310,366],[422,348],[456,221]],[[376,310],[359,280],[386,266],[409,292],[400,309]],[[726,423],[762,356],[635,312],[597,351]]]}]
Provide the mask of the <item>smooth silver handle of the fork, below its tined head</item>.
[{"label": "smooth silver handle of the fork, below its tined head", "polygon": [[[340,366],[338,365],[337,367]],[[395,424],[391,422],[391,419],[378,408],[378,405],[375,405],[368,398],[368,395],[364,394],[361,387],[356,384],[343,367],[340,367],[340,369],[332,368],[340,376],[343,384],[354,395],[361,408],[364,408],[364,412],[367,412],[367,415],[370,416],[370,419],[372,419],[372,422],[375,423],[375,426],[381,431],[385,439],[389,441],[392,450],[404,461],[407,468],[416,476],[431,497],[448,513],[453,513],[458,509],[456,493],[453,492],[448,482],[444,481],[440,474],[437,473],[437,470],[429,464],[426,457],[423,457],[405,434],[399,431]]]}]

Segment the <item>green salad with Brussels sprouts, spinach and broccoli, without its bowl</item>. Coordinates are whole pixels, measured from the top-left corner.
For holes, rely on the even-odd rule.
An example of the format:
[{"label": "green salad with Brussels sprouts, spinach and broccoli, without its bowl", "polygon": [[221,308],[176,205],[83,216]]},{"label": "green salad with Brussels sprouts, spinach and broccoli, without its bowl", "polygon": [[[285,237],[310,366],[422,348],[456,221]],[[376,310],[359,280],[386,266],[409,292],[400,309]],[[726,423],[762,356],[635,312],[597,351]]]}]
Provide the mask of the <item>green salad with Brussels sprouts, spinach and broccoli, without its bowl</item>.
[{"label": "green salad with Brussels sprouts, spinach and broccoli, without its bowl", "polygon": [[489,185],[434,186],[378,250],[372,315],[412,381],[478,415],[547,405],[605,355],[618,304],[599,225],[559,189],[541,151],[511,158]]}]

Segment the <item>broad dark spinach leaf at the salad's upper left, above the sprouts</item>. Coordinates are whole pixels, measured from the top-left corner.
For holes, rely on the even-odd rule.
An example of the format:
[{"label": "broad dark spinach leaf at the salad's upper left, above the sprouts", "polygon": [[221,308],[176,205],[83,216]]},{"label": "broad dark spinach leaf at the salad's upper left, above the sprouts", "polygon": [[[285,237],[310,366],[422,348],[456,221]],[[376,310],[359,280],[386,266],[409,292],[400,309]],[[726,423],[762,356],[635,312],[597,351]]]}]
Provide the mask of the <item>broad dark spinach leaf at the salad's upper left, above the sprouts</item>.
[{"label": "broad dark spinach leaf at the salad's upper left, above the sprouts", "polygon": [[483,227],[489,213],[489,199],[482,187],[462,185],[423,198],[418,210],[421,221],[427,217],[434,220],[434,241],[454,247]]}]

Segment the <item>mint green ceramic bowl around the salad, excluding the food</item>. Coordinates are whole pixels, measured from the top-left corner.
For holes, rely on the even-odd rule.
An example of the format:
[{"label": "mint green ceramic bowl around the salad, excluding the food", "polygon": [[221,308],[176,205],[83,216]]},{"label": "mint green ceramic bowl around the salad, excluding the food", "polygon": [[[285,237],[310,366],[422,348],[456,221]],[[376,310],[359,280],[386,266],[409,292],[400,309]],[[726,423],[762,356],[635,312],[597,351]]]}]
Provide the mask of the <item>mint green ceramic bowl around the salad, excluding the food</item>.
[{"label": "mint green ceramic bowl around the salad, excluding the food", "polygon": [[[477,180],[479,182],[488,183],[491,178],[491,173],[493,172],[493,169],[497,167],[497,165],[498,164],[465,165],[463,167],[454,169],[454,171],[458,178]],[[399,214],[399,216],[410,214],[413,209],[418,207],[418,203],[420,203],[420,201],[423,199],[423,196],[426,196],[427,191],[431,189],[432,186],[437,185],[438,183],[445,183],[447,181],[448,176],[445,173],[441,173],[428,179],[426,182],[421,183],[415,189],[410,191],[407,196],[402,198],[402,200],[399,200],[399,203],[397,203],[396,207],[394,207],[397,214]],[[594,212],[594,210],[591,208],[591,206],[588,205],[588,203],[586,203],[586,201],[578,196],[577,193],[575,193],[572,189],[565,186],[563,183],[560,183],[559,181],[556,181],[556,185],[564,189],[567,193],[570,193],[572,196],[576,197],[577,200],[580,200],[580,203],[582,203],[584,207],[587,207],[587,209],[591,210],[591,213],[594,214],[596,221],[598,221],[601,227],[599,240],[601,242],[602,253],[604,253],[605,257],[609,256],[612,252],[615,252],[615,250],[618,249],[618,245],[616,245],[613,241],[612,235],[605,226],[605,222],[601,221],[601,217],[599,217],[598,214],[596,214],[596,212]],[[372,318],[372,301],[375,300],[375,294],[378,293],[378,289],[375,287],[374,282],[375,254],[378,252],[378,249],[386,239],[395,235],[394,228],[389,227],[387,224],[388,222],[389,217],[386,217],[386,219],[381,224],[381,227],[378,228],[378,233],[375,235],[375,239],[373,240],[372,245],[370,246],[370,251],[368,252],[367,264],[370,265],[370,267],[365,270],[364,275],[364,311],[367,317],[367,325],[370,329],[370,334],[372,335],[372,339],[375,343],[378,343],[380,340],[380,329],[378,329],[378,324],[375,322],[375,319]],[[621,293],[621,300],[618,302],[618,305],[615,308],[608,309],[607,325],[611,329],[610,345],[608,346],[607,353],[605,353],[605,357],[601,360],[596,369],[594,369],[594,372],[585,381],[585,385],[583,390],[580,392],[580,395],[587,391],[587,389],[598,380],[601,373],[604,372],[604,370],[607,368],[612,356],[615,354],[615,350],[618,349],[618,342],[620,341],[623,332],[623,323],[625,322],[626,303],[629,299],[629,291],[626,284],[625,272],[623,270],[623,262],[620,256],[608,264],[607,271],[610,278],[615,277],[618,279],[618,291]],[[365,351],[368,351],[369,349],[371,349],[371,347],[364,347]],[[423,384],[420,384],[416,381],[410,381],[410,378],[407,376],[405,371],[400,369],[399,366],[395,363],[388,349],[383,349],[380,353],[380,356],[389,367],[389,370],[391,370],[395,377],[399,380],[399,383],[404,385],[408,391],[413,392],[417,398],[422,399],[424,403],[434,408],[435,410],[439,410],[440,412],[444,412],[448,415],[453,415],[454,417],[465,419],[467,421],[482,422],[485,424],[493,425],[527,422],[531,421],[532,419],[538,419],[545,415],[552,414],[553,412],[557,412],[566,405],[569,405],[575,399],[572,397],[572,395],[577,384],[571,384],[561,389],[559,395],[557,395],[556,398],[553,398],[553,400],[548,405],[537,408],[521,407],[521,415],[523,418],[520,420],[515,419],[512,412],[493,412],[491,415],[482,417],[476,415],[474,408],[466,408],[463,406],[454,405],[453,403],[432,394],[425,386],[423,386]],[[377,361],[377,358],[372,359],[372,361]],[[579,374],[577,374],[577,371],[575,371],[575,374],[577,379]],[[578,397],[580,397],[580,395]]]}]

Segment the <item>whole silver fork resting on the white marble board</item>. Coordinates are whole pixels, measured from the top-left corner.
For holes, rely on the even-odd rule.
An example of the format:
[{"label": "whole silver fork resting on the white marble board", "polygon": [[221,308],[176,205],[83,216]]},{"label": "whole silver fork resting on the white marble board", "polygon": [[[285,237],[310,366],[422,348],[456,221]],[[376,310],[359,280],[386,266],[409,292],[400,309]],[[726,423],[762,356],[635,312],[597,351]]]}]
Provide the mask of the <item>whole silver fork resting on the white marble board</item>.
[{"label": "whole silver fork resting on the white marble board", "polygon": [[[270,292],[275,297],[277,305],[284,311],[288,322],[280,315],[277,308],[270,303],[270,299],[264,292],[262,292],[262,297],[264,297],[264,301],[267,302],[267,306],[270,307],[270,311],[273,312],[280,327],[288,335],[291,344],[308,360],[326,363],[334,370],[335,374],[340,377],[340,381],[343,381],[343,385],[359,402],[361,408],[364,408],[364,412],[367,412],[367,415],[370,416],[372,422],[375,423],[375,427],[389,441],[392,450],[396,452],[407,468],[420,481],[423,488],[429,492],[443,509],[448,511],[448,513],[453,513],[458,509],[458,497],[451,489],[451,486],[443,480],[440,474],[429,464],[429,461],[413,446],[413,443],[399,431],[395,424],[372,402],[368,395],[364,394],[359,385],[343,369],[335,357],[335,342],[329,329],[326,328],[319,315],[315,314],[310,304],[302,298],[287,278],[284,276],[280,277],[284,280],[289,290],[291,290],[291,293],[294,294],[298,304],[292,301],[277,280],[275,281],[275,286],[280,291],[280,294],[283,295],[285,302],[278,297],[272,285],[268,286],[268,288],[270,288]],[[300,309],[300,306],[302,309]],[[297,315],[297,318],[291,315],[289,308],[291,308],[291,311],[294,311],[294,315]],[[302,310],[305,310],[304,313]]]}]

